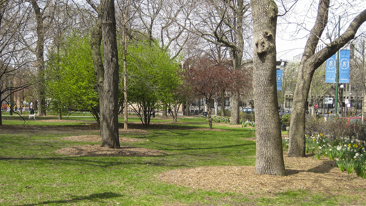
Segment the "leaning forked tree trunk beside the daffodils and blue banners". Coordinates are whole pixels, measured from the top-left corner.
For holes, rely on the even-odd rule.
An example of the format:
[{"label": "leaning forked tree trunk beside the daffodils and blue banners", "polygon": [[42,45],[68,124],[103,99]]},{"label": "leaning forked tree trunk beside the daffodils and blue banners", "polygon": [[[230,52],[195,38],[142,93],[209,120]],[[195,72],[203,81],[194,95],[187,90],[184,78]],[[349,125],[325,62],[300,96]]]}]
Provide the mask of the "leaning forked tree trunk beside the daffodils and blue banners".
[{"label": "leaning forked tree trunk beside the daffodils and blue banners", "polygon": [[[292,103],[290,123],[288,157],[305,157],[305,104],[309,95],[311,79],[315,69],[320,67],[326,59],[334,55],[340,48],[355,37],[358,28],[366,21],[366,10],[362,11],[351,22],[346,32],[327,47],[315,53],[319,38],[328,22],[328,8],[330,0],[320,0],[318,16],[300,62],[297,84]],[[257,119],[256,119],[257,120]]]}]

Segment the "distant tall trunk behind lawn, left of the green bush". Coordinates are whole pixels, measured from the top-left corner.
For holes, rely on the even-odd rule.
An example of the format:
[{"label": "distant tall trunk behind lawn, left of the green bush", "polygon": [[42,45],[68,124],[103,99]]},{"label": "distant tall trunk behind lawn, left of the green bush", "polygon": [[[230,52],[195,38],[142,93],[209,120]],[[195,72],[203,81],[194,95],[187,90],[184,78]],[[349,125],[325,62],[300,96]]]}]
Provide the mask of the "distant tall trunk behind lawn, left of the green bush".
[{"label": "distant tall trunk behind lawn, left of the green bush", "polygon": [[41,8],[38,6],[36,0],[31,1],[34,13],[36,14],[36,22],[37,22],[37,72],[38,72],[38,112],[37,115],[44,116],[46,115],[46,98],[45,98],[45,85],[44,85],[44,16]]}]

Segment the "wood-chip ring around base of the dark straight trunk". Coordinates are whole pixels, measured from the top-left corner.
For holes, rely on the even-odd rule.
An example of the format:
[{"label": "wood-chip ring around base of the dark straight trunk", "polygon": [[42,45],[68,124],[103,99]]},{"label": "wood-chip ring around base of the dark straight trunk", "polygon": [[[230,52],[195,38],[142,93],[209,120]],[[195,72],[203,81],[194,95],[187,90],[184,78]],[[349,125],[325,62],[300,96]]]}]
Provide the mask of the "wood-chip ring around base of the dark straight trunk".
[{"label": "wood-chip ring around base of the dark straight trunk", "polygon": [[74,147],[66,147],[56,150],[59,154],[68,155],[71,157],[81,156],[103,156],[103,157],[148,157],[163,154],[161,150],[152,150],[139,147],[121,147],[120,149],[111,149],[100,147],[100,145],[82,145]]}]

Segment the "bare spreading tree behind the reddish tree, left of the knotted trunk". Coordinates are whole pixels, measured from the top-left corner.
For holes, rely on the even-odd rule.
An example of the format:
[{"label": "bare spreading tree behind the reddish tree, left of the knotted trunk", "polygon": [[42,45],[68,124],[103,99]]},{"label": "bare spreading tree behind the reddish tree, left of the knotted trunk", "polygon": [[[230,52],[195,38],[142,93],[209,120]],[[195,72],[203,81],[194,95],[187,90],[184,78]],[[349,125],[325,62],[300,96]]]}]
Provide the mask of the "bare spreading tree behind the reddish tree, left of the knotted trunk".
[{"label": "bare spreading tree behind the reddish tree, left of the knotted trunk", "polygon": [[[251,42],[250,4],[244,0],[193,1],[193,4],[185,12],[189,27],[181,25],[209,43],[227,47],[234,69],[239,69],[244,44]],[[232,91],[232,96],[230,123],[239,124],[239,93]]]}]

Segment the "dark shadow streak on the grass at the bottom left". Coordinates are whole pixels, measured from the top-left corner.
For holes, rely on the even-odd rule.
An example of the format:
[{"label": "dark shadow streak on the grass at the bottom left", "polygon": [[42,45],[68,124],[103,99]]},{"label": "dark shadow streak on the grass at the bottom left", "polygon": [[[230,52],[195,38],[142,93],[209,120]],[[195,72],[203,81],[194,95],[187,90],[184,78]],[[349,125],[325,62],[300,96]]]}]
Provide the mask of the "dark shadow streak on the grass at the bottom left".
[{"label": "dark shadow streak on the grass at the bottom left", "polygon": [[33,206],[33,205],[47,205],[47,204],[70,204],[70,203],[76,203],[83,200],[89,200],[89,201],[98,201],[98,199],[108,199],[108,198],[116,198],[120,197],[122,195],[116,194],[113,192],[103,192],[103,193],[97,193],[97,194],[91,194],[91,195],[85,195],[85,196],[76,196],[71,195],[73,199],[68,200],[58,200],[58,201],[44,201],[40,203],[33,203],[33,204],[26,204],[26,205],[14,205],[14,206]]}]

